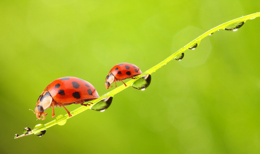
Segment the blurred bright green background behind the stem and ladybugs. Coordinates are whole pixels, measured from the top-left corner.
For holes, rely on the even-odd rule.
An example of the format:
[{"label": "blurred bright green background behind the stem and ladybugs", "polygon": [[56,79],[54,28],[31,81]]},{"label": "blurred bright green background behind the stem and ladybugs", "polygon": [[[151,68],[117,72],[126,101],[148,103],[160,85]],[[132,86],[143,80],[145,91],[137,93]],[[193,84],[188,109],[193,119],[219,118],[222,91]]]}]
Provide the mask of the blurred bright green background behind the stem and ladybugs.
[{"label": "blurred bright green background behind the stem and ladybugs", "polygon": [[45,121],[28,110],[53,80],[76,76],[102,95],[114,88],[104,87],[114,65],[144,72],[205,31],[259,8],[254,0],[1,0],[0,152],[260,153],[260,18],[205,38],[182,61],[153,73],[146,90],[116,94],[105,112],[86,110],[43,137],[13,139],[53,120],[51,109]]}]

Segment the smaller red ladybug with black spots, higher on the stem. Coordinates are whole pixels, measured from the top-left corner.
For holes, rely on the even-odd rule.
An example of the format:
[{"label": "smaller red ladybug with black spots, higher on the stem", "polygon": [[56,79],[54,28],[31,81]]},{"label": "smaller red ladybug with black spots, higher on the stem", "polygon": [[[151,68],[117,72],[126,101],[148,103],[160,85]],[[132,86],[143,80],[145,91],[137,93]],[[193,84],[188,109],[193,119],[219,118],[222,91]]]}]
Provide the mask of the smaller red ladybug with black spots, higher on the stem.
[{"label": "smaller red ladybug with black spots, higher on the stem", "polygon": [[[109,74],[105,78],[105,88],[109,89],[112,87],[111,84],[115,82],[117,87],[117,81],[122,81],[125,79],[135,79],[134,76],[142,74],[141,70],[134,64],[129,63],[120,63],[115,65],[110,71]],[[122,83],[124,83],[122,81]],[[124,83],[126,86],[126,84]]]}]

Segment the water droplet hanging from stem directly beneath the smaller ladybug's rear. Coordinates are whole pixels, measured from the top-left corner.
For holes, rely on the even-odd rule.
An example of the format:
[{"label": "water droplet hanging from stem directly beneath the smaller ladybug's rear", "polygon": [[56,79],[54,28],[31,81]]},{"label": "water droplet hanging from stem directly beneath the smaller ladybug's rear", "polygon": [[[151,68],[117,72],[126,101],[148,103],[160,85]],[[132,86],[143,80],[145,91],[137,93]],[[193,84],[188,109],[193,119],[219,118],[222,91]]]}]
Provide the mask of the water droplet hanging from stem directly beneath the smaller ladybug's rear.
[{"label": "water droplet hanging from stem directly beneath the smaller ladybug's rear", "polygon": [[143,75],[137,81],[135,81],[131,86],[138,90],[145,90],[151,83],[151,75]]}]

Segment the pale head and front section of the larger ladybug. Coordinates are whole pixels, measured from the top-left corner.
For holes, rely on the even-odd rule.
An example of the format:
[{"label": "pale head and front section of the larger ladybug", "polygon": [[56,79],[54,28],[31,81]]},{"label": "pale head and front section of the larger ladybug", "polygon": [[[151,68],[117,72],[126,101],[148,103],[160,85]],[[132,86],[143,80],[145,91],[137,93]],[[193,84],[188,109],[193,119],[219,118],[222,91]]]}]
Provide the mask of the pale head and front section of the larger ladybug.
[{"label": "pale head and front section of the larger ladybug", "polygon": [[44,115],[47,115],[47,113],[45,113],[44,111],[51,107],[52,100],[53,100],[52,96],[47,90],[41,93],[36,103],[35,112],[34,112],[38,119],[41,119],[40,118],[41,115],[43,117],[41,120],[45,119]]}]

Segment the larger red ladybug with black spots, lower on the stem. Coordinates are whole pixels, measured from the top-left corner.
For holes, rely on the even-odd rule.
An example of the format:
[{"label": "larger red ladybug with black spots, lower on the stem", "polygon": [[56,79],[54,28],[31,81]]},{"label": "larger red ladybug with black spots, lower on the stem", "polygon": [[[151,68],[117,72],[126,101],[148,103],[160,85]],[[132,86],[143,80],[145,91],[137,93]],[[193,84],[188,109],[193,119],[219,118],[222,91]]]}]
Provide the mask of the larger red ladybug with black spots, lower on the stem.
[{"label": "larger red ladybug with black spots, lower on the stem", "polygon": [[95,100],[99,95],[92,84],[75,77],[64,77],[54,80],[40,94],[35,107],[35,114],[38,119],[45,119],[44,111],[52,107],[52,118],[55,117],[54,107],[63,107],[71,117],[72,115],[64,106],[70,104],[81,104],[84,106],[93,103],[84,102]]}]

